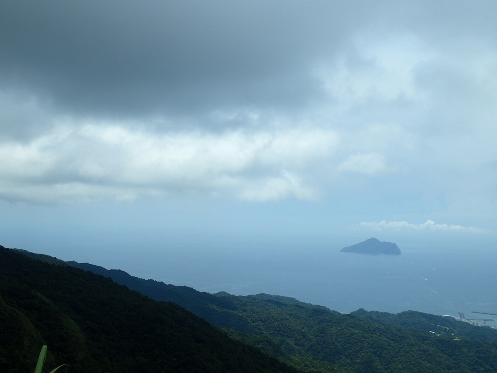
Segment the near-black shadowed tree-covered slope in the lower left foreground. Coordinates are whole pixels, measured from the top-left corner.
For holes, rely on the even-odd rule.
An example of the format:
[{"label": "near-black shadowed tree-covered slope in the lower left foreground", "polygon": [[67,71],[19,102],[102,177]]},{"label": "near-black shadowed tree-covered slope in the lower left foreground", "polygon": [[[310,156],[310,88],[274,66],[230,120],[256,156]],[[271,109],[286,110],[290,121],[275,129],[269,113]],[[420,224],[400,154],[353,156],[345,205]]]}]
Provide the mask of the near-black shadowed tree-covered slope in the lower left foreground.
[{"label": "near-black shadowed tree-covered slope in the lower left foreground", "polygon": [[296,372],[178,305],[0,247],[0,372]]}]

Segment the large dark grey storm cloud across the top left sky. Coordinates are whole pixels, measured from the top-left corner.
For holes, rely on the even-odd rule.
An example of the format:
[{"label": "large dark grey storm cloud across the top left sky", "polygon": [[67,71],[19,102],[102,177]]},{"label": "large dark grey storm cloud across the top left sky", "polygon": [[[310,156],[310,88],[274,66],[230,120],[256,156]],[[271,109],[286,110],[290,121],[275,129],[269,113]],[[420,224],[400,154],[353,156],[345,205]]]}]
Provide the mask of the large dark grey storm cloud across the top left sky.
[{"label": "large dark grey storm cloud across the top left sky", "polygon": [[368,10],[348,1],[9,1],[1,83],[85,113],[294,106],[317,94],[306,65]]}]

